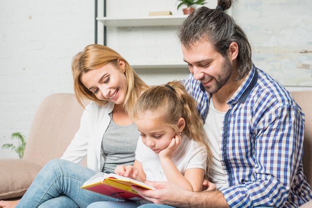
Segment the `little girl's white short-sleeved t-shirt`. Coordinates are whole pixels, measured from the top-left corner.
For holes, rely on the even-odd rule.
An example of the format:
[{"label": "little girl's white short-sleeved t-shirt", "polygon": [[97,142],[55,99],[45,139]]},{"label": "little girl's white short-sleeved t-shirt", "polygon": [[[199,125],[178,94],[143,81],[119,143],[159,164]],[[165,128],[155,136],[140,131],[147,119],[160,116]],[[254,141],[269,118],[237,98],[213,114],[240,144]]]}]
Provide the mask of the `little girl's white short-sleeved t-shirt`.
[{"label": "little girl's white short-sleeved t-shirt", "polygon": [[[138,140],[136,159],[142,163],[143,170],[146,174],[146,180],[167,181],[158,154],[147,147],[143,143],[141,137]],[[184,175],[185,170],[189,168],[201,168],[206,170],[206,147],[189,139],[186,135],[183,135],[182,142],[174,153],[172,161],[182,175]]]}]

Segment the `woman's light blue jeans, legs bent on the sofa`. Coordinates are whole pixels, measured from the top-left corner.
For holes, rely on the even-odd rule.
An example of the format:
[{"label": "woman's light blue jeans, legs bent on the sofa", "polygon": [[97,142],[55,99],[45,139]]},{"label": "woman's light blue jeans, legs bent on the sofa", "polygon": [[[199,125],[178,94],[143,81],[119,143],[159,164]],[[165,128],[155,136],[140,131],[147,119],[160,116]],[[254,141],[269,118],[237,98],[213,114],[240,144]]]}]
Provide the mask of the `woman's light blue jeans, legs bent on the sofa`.
[{"label": "woman's light blue jeans, legs bent on the sofa", "polygon": [[38,173],[16,208],[86,208],[93,202],[119,201],[80,189],[95,174],[67,160],[51,160]]}]

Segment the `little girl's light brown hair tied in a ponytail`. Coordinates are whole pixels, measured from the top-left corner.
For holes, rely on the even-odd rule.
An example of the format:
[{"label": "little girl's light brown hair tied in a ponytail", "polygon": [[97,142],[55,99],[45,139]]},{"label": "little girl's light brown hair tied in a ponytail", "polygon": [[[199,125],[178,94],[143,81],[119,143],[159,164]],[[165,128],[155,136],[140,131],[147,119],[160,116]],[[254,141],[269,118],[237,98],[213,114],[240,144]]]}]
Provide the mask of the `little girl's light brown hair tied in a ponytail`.
[{"label": "little girl's light brown hair tied in a ponytail", "polygon": [[209,178],[211,150],[207,146],[207,135],[203,129],[203,121],[199,117],[195,100],[186,92],[179,81],[168,82],[163,86],[155,86],[145,91],[133,109],[133,118],[142,113],[153,111],[162,124],[172,127],[178,133],[177,122],[185,120],[183,133],[189,138],[202,143],[208,152],[206,179]]}]

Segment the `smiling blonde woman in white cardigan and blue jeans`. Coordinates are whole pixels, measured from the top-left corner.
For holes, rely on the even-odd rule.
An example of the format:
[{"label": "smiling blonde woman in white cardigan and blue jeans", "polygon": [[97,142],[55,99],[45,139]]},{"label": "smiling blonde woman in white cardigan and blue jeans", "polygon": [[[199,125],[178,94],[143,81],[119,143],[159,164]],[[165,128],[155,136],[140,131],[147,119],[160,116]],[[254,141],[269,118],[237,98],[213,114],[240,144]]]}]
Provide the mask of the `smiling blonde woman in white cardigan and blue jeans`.
[{"label": "smiling blonde woman in white cardigan and blue jeans", "polygon": [[[133,164],[140,134],[129,115],[149,87],[120,54],[103,45],[89,45],[79,52],[72,72],[77,100],[92,101],[85,107],[79,130],[62,159],[47,163],[19,202],[2,201],[0,207],[11,208],[18,202],[19,208],[86,208],[93,202],[116,201],[80,187],[97,172]],[[88,168],[79,165],[86,156]]]}]

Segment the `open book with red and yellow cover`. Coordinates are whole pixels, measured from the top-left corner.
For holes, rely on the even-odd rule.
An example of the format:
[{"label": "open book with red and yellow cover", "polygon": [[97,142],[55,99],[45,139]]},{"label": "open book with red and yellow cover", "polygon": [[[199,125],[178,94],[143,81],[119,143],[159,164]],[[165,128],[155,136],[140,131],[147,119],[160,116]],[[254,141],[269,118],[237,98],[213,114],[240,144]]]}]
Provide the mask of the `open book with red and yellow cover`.
[{"label": "open book with red and yellow cover", "polygon": [[142,200],[143,197],[133,190],[131,186],[151,190],[155,189],[152,186],[131,178],[119,176],[114,173],[106,174],[103,172],[92,176],[80,188],[126,201]]}]

